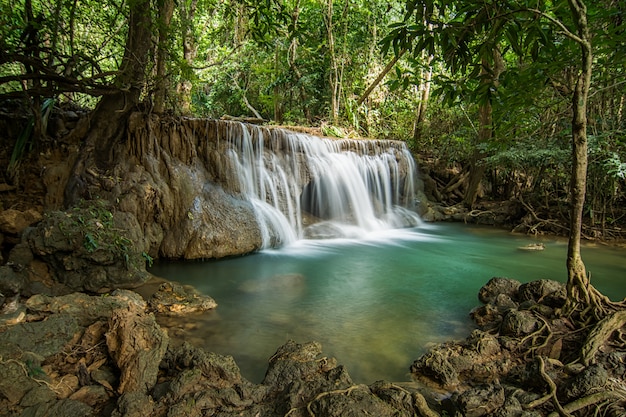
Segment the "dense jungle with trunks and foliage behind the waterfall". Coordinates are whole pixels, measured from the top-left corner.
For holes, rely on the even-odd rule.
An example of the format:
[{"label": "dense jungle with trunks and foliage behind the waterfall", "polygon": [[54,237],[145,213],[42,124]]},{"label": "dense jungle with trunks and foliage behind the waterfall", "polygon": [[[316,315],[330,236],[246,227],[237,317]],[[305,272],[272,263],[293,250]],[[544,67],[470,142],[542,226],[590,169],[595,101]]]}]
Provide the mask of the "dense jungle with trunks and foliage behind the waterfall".
[{"label": "dense jungle with trunks and foliage behind the waterfall", "polygon": [[[20,174],[29,155],[65,146],[69,119],[98,106],[114,116],[108,125],[136,109],[243,117],[403,140],[433,201],[566,234],[580,63],[564,31],[577,25],[571,2],[450,3],[3,0],[2,182],[32,187]],[[610,240],[626,220],[626,10],[616,0],[586,7],[583,236]]]}]

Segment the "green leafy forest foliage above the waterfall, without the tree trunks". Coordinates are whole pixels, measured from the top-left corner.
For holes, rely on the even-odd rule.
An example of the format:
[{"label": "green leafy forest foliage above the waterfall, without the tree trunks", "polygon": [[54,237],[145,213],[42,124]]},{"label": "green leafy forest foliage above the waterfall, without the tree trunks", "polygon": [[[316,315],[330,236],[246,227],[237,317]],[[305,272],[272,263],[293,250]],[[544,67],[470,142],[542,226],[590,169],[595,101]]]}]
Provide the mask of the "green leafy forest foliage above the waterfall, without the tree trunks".
[{"label": "green leafy forest foliage above the waterfall, without the tree trunks", "polygon": [[[25,97],[29,105],[38,98],[51,110],[48,100],[56,99],[57,106],[67,101],[93,105],[120,88],[116,76],[134,3],[90,1],[33,0],[30,18],[27,3],[0,4],[0,96]],[[596,68],[588,117],[590,204],[599,210],[604,201],[623,201],[626,40],[619,2],[587,3]],[[154,7],[150,31],[156,39],[167,29],[167,39],[154,42],[145,72],[154,72],[156,48],[164,46],[173,112],[251,116],[254,108],[276,124],[323,126],[334,136],[357,132],[402,139],[445,164],[466,165],[479,151],[497,175],[541,176],[538,181],[557,184],[555,188],[566,183],[574,68],[580,54],[578,45],[563,35],[564,29],[576,33],[567,1],[334,0],[331,9],[327,6],[312,0],[181,0],[174,3],[167,28]],[[36,33],[39,43],[27,47],[29,33]],[[504,65],[497,77],[494,51]],[[401,54],[357,105],[391,56]],[[414,138],[431,68],[432,96]],[[331,121],[335,72],[340,117]],[[147,102],[156,84],[148,76],[139,86]],[[186,99],[191,108],[180,109]],[[486,104],[492,107],[486,126],[492,135],[478,140],[478,109]],[[44,122],[48,115],[43,108]],[[10,170],[34,145],[32,126],[17,141]],[[103,229],[93,228],[87,217],[83,221],[83,247],[97,253],[106,246]],[[103,219],[98,221],[106,229]],[[127,242],[116,243],[113,236],[104,240],[117,245],[124,258]]]}]

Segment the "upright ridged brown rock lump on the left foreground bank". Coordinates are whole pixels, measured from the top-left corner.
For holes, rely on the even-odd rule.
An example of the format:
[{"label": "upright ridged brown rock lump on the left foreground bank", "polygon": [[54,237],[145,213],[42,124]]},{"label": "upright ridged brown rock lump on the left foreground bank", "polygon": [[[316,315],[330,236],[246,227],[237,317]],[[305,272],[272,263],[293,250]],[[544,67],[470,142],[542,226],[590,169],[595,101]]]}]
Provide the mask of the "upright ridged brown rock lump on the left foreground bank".
[{"label": "upright ridged brown rock lump on the left foreground bank", "polygon": [[159,363],[169,342],[167,333],[145,308],[129,304],[113,311],[106,343],[109,354],[120,369],[120,394],[145,393],[156,384]]}]

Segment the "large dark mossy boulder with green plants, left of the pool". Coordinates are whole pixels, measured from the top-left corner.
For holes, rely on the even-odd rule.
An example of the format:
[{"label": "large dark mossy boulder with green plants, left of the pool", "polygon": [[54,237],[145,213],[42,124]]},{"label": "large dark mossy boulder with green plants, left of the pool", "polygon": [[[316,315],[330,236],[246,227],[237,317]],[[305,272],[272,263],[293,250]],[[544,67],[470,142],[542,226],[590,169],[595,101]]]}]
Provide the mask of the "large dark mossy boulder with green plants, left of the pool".
[{"label": "large dark mossy boulder with green plants, left of the pool", "polygon": [[74,291],[106,292],[137,286],[149,277],[143,232],[132,215],[106,203],[54,211],[24,233],[33,254]]}]

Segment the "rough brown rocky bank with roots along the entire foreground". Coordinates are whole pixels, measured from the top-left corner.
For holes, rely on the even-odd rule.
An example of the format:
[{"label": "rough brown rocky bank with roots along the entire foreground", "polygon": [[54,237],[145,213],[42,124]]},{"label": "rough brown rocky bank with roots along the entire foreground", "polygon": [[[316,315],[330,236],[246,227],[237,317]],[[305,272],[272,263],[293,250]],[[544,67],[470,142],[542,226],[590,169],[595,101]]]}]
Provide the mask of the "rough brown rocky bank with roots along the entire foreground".
[{"label": "rough brown rocky bank with roots along the entire foreground", "polygon": [[[5,292],[8,282],[6,276],[0,281]],[[480,290],[483,304],[472,312],[478,328],[467,339],[418,358],[411,366],[413,383],[370,385],[355,384],[340,358],[324,356],[314,341],[278,347],[264,380],[253,384],[232,357],[174,343],[157,323],[160,315],[215,308],[210,297],[168,282],[151,281],[137,291],[39,294],[5,303],[0,415],[626,413],[623,334],[594,339],[573,329],[555,314],[565,291],[554,281],[491,279]]]}]

